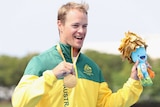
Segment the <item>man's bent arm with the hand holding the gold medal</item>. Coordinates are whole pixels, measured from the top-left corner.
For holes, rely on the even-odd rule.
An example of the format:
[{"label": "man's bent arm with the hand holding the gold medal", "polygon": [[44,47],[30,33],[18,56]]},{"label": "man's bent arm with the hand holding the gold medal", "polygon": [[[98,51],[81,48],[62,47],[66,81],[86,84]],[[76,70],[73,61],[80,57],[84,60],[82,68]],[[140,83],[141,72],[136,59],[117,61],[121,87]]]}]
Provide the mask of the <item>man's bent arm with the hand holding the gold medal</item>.
[{"label": "man's bent arm with the hand holding the gold medal", "polygon": [[[57,66],[52,66],[52,70],[45,71],[45,69],[52,67],[46,68],[48,60],[41,61],[41,59],[39,57],[33,58],[26,67],[25,74],[13,93],[13,107],[35,107],[41,97],[53,88],[57,78],[72,71],[72,64],[64,61]],[[45,71],[42,76],[41,71]]]}]

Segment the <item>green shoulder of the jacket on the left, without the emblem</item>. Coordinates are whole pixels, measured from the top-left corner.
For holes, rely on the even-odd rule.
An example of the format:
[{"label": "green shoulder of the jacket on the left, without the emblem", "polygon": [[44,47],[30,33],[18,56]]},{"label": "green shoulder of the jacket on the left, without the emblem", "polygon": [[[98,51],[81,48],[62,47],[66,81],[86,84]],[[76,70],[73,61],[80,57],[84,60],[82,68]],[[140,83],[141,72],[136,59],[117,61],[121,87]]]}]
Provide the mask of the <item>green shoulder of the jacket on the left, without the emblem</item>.
[{"label": "green shoulder of the jacket on the left, without the emblem", "polygon": [[31,58],[25,69],[25,74],[41,76],[45,70],[53,68],[57,64],[58,54],[55,46]]}]

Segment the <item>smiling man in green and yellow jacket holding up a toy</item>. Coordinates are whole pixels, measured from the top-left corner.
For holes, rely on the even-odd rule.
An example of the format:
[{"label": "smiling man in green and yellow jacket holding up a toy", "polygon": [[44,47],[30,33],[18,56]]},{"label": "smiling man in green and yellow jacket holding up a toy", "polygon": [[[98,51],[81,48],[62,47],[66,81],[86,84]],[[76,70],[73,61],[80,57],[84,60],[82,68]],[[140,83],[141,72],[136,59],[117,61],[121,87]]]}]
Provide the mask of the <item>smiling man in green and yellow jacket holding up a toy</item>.
[{"label": "smiling man in green and yellow jacket holding up a toy", "polygon": [[[60,42],[31,59],[17,85],[13,107],[129,107],[142,92],[136,67],[122,89],[112,93],[100,68],[80,53],[88,25],[88,5],[69,2],[58,11]],[[73,88],[64,85],[75,75]]]}]

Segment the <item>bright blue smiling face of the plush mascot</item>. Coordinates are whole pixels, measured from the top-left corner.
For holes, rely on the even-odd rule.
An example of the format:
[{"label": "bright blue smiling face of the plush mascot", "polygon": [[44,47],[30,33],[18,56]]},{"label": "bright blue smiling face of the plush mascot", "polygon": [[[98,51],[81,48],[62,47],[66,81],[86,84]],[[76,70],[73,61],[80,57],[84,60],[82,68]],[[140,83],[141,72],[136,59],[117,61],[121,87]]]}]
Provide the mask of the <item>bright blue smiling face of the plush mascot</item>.
[{"label": "bright blue smiling face of the plush mascot", "polygon": [[136,48],[134,52],[131,53],[131,58],[133,62],[139,60],[140,63],[145,63],[147,60],[147,54],[144,47]]}]

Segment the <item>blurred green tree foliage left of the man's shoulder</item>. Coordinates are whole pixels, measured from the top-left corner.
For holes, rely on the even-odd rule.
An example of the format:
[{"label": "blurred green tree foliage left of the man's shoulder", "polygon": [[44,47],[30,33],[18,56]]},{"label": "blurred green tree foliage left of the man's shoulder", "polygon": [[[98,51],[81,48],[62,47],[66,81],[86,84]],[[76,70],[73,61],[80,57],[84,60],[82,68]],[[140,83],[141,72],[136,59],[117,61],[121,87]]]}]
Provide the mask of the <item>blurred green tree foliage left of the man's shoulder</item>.
[{"label": "blurred green tree foliage left of the man's shoulder", "polygon": [[33,55],[27,55],[23,58],[0,56],[0,85],[16,85],[23,75],[24,69]]}]

